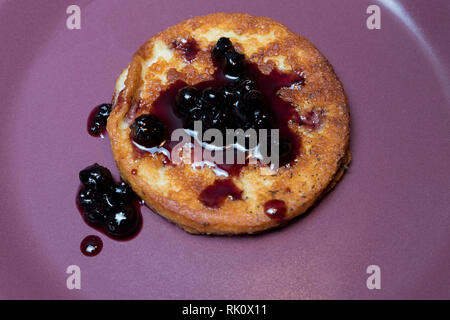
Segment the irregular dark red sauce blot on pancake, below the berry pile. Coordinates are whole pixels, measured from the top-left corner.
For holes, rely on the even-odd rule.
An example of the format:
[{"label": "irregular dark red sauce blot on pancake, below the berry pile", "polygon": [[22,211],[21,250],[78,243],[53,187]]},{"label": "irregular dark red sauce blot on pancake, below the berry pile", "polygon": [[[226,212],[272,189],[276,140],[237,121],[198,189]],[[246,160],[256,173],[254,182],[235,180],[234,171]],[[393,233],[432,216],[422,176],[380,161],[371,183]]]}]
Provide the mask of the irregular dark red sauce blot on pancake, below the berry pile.
[{"label": "irregular dark red sauce blot on pancake, below the berry pile", "polygon": [[242,199],[242,190],[231,179],[216,180],[200,193],[199,199],[207,207],[218,208],[226,199]]}]

